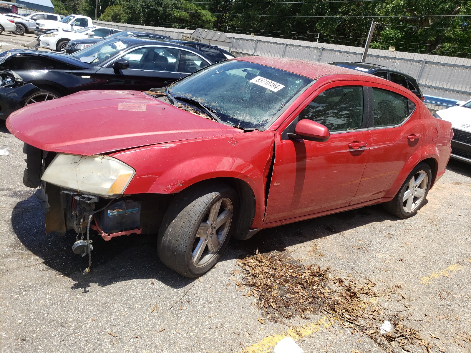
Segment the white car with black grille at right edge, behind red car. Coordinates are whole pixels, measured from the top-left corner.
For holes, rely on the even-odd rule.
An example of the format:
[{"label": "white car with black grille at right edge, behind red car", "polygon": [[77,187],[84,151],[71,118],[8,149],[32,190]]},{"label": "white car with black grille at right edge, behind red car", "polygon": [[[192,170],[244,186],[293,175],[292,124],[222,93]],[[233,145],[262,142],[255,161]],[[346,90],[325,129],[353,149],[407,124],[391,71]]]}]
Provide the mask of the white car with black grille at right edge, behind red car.
[{"label": "white car with black grille at right edge, behind red car", "polygon": [[451,158],[471,164],[471,100],[457,104],[435,112],[434,116],[451,122],[455,134],[451,141]]}]

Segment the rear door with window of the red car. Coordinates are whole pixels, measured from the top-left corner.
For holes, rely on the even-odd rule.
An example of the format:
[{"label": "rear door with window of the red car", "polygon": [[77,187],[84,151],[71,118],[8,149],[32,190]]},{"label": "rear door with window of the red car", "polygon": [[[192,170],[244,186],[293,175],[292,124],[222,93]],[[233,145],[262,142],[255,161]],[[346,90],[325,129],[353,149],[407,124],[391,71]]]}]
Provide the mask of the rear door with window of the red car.
[{"label": "rear door with window of the red car", "polygon": [[383,197],[423,139],[423,122],[412,100],[386,85],[370,84],[369,92],[370,156],[351,204]]}]

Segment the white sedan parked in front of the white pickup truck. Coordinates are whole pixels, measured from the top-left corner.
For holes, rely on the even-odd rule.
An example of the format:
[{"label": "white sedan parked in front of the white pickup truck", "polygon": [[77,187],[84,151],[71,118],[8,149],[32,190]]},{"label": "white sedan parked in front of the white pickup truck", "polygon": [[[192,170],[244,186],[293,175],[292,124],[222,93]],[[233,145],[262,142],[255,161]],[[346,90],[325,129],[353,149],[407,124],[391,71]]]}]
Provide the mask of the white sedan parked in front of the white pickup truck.
[{"label": "white sedan parked in front of the white pickup truck", "polygon": [[65,53],[67,44],[74,39],[103,38],[114,31],[106,27],[85,27],[76,31],[58,29],[57,32],[46,33],[39,37],[40,47]]}]

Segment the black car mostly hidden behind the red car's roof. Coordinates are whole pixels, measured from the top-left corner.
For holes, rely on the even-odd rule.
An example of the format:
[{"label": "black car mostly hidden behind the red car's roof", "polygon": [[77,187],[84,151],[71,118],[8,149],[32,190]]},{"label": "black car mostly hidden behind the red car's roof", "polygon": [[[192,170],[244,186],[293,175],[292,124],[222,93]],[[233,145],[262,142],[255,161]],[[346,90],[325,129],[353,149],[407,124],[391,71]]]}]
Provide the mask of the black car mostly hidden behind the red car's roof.
[{"label": "black car mostly hidden behind the red car's roof", "polygon": [[384,67],[375,64],[366,64],[366,63],[353,63],[350,61],[330,63],[331,65],[346,67],[349,69],[371,73],[374,76],[381,77],[382,79],[397,83],[398,85],[407,88],[414,95],[418,96],[422,102],[425,99],[420,91],[419,85],[414,77],[389,67]]}]

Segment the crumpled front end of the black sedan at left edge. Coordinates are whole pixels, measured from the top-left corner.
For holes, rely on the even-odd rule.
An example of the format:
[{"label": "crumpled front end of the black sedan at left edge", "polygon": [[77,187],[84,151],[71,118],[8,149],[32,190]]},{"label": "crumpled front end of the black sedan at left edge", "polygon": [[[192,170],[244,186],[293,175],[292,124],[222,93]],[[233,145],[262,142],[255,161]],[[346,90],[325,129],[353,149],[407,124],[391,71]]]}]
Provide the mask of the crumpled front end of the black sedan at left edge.
[{"label": "crumpled front end of the black sedan at left edge", "polygon": [[6,120],[16,110],[22,108],[26,99],[38,92],[32,83],[26,83],[11,70],[0,71],[0,119]]}]

